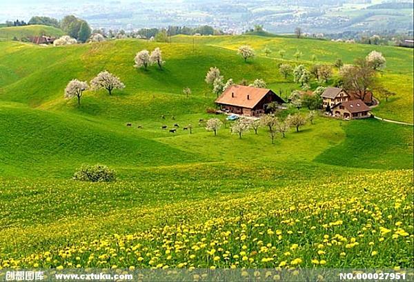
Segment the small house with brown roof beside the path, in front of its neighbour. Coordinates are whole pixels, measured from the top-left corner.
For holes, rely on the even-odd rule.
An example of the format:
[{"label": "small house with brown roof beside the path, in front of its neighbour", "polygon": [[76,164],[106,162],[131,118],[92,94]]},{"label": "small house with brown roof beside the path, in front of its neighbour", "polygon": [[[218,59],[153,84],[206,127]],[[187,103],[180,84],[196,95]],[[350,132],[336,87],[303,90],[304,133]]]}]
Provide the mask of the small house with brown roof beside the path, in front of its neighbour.
[{"label": "small house with brown roof beside the path, in front of its neighbour", "polygon": [[333,106],[332,112],[335,117],[341,117],[342,119],[364,119],[369,117],[368,105],[362,100],[343,101]]}]

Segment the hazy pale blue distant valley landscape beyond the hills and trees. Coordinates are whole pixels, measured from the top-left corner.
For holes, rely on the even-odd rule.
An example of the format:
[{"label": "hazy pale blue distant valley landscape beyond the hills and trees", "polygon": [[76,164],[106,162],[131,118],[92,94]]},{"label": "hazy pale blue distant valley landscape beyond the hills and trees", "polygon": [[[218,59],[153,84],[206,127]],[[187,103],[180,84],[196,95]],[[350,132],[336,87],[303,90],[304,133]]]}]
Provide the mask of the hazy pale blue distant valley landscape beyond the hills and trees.
[{"label": "hazy pale blue distant valley landscape beyond the hills and trees", "polygon": [[[62,19],[75,14],[95,29],[134,32],[141,28],[212,26],[227,34],[242,34],[255,25],[277,34],[293,33],[300,26],[315,37],[353,39],[360,34],[413,34],[413,2],[371,0],[291,1],[166,1],[122,0],[53,2],[22,0],[0,3],[0,22],[34,14]],[[11,6],[13,5],[13,7]],[[26,18],[25,18],[26,17]],[[386,20],[380,20],[384,19]],[[336,34],[336,35],[334,35]],[[338,37],[338,38],[339,38]]]}]

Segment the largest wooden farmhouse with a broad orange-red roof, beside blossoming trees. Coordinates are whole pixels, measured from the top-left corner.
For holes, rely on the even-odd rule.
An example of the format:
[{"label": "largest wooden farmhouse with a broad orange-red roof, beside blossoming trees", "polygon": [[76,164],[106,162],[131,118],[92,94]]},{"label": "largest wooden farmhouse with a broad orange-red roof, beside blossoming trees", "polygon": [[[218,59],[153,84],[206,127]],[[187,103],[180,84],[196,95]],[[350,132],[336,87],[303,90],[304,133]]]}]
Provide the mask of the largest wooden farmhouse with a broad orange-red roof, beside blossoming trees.
[{"label": "largest wooden farmhouse with a broad orange-red roof, beside blossoming trees", "polygon": [[268,103],[285,103],[270,89],[244,85],[231,85],[215,102],[221,110],[251,117],[264,114]]}]

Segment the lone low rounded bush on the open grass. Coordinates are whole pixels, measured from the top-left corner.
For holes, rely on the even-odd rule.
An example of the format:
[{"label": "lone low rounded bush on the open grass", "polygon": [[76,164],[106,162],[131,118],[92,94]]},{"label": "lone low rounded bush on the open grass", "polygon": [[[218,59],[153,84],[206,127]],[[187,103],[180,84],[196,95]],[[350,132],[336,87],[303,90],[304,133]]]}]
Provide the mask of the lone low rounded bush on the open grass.
[{"label": "lone low rounded bush on the open grass", "polygon": [[73,179],[91,182],[110,182],[117,180],[115,170],[111,170],[106,165],[82,165],[73,174]]}]

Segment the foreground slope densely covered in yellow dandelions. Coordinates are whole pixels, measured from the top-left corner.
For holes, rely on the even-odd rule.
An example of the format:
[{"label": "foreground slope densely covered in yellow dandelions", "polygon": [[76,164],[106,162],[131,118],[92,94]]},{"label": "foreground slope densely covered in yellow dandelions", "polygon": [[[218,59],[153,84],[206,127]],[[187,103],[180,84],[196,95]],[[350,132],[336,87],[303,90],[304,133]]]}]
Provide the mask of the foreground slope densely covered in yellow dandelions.
[{"label": "foreground slope densely covered in yellow dandelions", "polygon": [[[0,268],[413,268],[412,173],[364,172],[129,209],[118,221],[124,233],[97,236],[88,222],[62,223],[56,232],[83,228],[86,236],[24,256],[3,250]],[[144,221],[152,227],[142,229]]]}]

